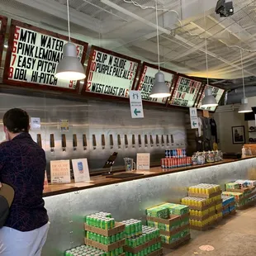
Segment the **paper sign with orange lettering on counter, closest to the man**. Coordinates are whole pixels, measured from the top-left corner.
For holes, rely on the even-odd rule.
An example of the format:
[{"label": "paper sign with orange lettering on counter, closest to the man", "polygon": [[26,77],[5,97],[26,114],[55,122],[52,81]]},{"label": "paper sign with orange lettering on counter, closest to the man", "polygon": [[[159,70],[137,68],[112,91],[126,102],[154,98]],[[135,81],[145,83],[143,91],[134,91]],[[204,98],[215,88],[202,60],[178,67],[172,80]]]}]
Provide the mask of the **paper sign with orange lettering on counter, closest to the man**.
[{"label": "paper sign with orange lettering on counter, closest to the man", "polygon": [[69,160],[50,161],[50,182],[52,184],[71,182]]}]

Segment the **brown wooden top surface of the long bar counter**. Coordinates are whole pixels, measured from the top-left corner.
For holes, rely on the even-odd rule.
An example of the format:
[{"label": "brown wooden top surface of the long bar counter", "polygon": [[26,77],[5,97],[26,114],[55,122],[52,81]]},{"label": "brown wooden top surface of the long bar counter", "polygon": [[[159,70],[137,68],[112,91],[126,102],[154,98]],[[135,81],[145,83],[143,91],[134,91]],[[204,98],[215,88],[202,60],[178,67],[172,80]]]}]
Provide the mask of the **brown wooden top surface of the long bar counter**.
[{"label": "brown wooden top surface of the long bar counter", "polygon": [[[247,157],[246,159],[251,159],[254,157],[255,156]],[[204,168],[207,166],[233,163],[233,162],[237,162],[237,161],[243,161],[246,159],[224,159],[221,162],[216,162],[213,164],[192,165],[192,166],[187,166],[187,167],[182,167],[182,168],[171,168],[171,169],[162,169],[161,167],[154,167],[154,168],[150,168],[150,170],[135,171],[133,173],[143,173],[144,175],[138,176],[138,177],[132,177],[132,178],[106,178],[105,176],[94,176],[94,177],[91,177],[91,181],[88,183],[69,183],[69,184],[59,184],[59,185],[47,185],[47,186],[45,186],[44,197],[55,196],[55,195],[59,195],[59,194],[67,193],[67,192],[75,192],[78,190],[88,189],[88,188],[92,188],[92,187],[102,187],[102,186],[107,186],[107,185],[115,184],[115,183],[125,183],[127,181],[140,179],[140,178],[149,178],[149,177],[164,175],[164,174],[168,174],[168,173],[178,173],[178,172],[184,172],[184,171],[193,170],[193,169],[197,169],[197,168]]]}]

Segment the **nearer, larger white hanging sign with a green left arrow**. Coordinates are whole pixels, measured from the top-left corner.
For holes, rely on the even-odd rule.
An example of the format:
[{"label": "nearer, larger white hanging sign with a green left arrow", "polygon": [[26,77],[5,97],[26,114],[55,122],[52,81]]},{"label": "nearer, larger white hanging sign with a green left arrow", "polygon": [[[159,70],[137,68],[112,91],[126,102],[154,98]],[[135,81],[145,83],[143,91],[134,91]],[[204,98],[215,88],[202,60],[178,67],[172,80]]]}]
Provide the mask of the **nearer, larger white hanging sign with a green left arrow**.
[{"label": "nearer, larger white hanging sign with a green left arrow", "polygon": [[140,91],[130,91],[130,113],[132,118],[144,118]]}]

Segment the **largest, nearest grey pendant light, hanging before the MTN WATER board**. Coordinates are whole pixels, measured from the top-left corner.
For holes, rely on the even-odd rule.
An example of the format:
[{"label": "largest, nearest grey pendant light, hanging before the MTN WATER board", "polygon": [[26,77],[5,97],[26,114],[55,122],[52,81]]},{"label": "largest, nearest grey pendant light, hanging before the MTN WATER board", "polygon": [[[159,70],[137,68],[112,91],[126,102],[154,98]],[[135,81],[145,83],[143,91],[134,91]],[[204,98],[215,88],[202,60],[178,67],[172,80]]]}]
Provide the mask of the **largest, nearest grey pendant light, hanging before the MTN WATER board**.
[{"label": "largest, nearest grey pendant light, hanging before the MTN WATER board", "polygon": [[55,77],[62,80],[81,80],[85,78],[83,65],[77,57],[77,47],[70,40],[69,0],[67,0],[69,42],[64,45],[63,59],[59,61]]}]

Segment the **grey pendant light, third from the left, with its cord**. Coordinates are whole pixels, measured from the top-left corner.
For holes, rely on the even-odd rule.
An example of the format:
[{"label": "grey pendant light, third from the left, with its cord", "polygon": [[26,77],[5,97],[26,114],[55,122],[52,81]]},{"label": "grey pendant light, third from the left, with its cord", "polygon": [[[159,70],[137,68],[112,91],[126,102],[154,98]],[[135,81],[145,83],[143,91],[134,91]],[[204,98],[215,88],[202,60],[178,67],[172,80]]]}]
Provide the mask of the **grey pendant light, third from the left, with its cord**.
[{"label": "grey pendant light, third from the left, with its cord", "polygon": [[[206,33],[206,14],[204,18],[205,18],[205,33]],[[207,39],[206,39],[206,75],[207,75],[207,85],[209,86]],[[216,106],[218,106],[218,103],[216,102],[216,98],[212,95],[211,88],[206,88],[205,97],[201,101],[201,107],[216,107]]]}]

